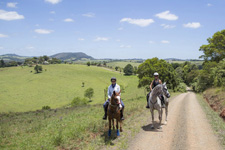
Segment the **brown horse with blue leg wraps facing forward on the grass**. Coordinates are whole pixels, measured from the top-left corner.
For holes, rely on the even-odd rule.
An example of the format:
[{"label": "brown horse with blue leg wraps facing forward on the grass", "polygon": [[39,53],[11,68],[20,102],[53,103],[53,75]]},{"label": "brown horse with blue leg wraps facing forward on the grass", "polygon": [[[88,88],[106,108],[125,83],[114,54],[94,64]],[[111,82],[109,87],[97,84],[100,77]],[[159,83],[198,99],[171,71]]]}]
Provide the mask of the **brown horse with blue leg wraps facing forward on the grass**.
[{"label": "brown horse with blue leg wraps facing forward on the grass", "polygon": [[[112,124],[113,124],[113,129],[115,129],[114,119],[116,119],[117,136],[120,136],[120,132],[123,132],[122,120],[120,118],[120,110],[121,109],[122,109],[122,105],[120,103],[120,95],[114,91],[111,96],[111,99],[109,101],[109,107],[107,110],[107,115],[108,115],[108,119],[109,119],[108,136],[111,136]],[[119,131],[119,123],[120,123],[120,131]]]}]

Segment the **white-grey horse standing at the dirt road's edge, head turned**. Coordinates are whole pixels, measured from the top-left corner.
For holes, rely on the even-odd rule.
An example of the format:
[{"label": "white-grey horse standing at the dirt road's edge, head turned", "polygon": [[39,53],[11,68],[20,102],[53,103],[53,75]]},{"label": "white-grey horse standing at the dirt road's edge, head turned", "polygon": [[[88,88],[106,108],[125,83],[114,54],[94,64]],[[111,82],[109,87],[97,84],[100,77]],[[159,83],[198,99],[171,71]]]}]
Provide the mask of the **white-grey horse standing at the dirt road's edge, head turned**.
[{"label": "white-grey horse standing at the dirt road's edge, head turned", "polygon": [[[150,112],[152,114],[152,126],[151,128],[154,129],[154,110],[156,109],[159,113],[159,126],[158,129],[161,129],[161,123],[162,123],[162,105],[161,105],[161,100],[159,99],[160,95],[165,95],[166,98],[170,97],[170,94],[168,92],[168,89],[166,87],[166,83],[164,84],[159,84],[150,93],[149,96],[149,107],[150,107]],[[168,100],[167,100],[168,101]],[[167,103],[167,108],[166,108],[166,114],[168,114],[168,103]],[[166,115],[166,121],[167,121],[167,115]]]}]

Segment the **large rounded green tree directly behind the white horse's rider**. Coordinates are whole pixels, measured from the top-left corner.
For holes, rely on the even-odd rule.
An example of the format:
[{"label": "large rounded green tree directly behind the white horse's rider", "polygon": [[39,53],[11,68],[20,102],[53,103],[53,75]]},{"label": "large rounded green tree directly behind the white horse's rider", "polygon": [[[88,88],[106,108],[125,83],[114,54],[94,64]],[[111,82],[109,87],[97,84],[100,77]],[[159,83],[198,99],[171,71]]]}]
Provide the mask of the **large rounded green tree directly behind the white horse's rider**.
[{"label": "large rounded green tree directly behind the white horse's rider", "polygon": [[146,60],[139,65],[137,73],[139,78],[138,87],[148,87],[154,79],[154,72],[159,73],[159,78],[162,82],[166,82],[168,88],[174,89],[179,84],[176,79],[175,71],[171,64],[167,63],[163,59],[152,58]]}]

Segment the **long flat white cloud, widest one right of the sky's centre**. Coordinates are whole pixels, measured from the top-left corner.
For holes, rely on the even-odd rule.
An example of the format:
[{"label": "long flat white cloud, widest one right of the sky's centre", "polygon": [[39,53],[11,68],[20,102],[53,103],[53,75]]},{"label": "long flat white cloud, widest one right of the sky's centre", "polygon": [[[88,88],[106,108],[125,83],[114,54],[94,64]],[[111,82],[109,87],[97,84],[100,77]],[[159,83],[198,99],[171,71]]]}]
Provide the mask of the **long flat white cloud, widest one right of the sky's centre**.
[{"label": "long flat white cloud, widest one right of the sky's centre", "polygon": [[120,22],[128,22],[130,24],[135,24],[140,27],[147,27],[150,24],[154,23],[153,19],[132,19],[132,18],[123,18]]}]

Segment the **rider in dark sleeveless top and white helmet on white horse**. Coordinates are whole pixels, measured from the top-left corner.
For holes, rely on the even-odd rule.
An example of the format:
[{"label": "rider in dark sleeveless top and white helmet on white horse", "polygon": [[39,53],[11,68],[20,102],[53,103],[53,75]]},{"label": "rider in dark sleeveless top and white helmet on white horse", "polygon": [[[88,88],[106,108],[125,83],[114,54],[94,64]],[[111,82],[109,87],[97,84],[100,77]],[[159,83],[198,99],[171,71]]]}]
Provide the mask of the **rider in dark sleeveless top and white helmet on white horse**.
[{"label": "rider in dark sleeveless top and white helmet on white horse", "polygon": [[[155,77],[155,79],[151,82],[151,84],[149,86],[151,91],[158,84],[162,84],[162,81],[159,79],[158,72],[155,72],[154,73],[154,77]],[[148,99],[149,99],[149,95],[150,95],[151,91],[147,94],[147,106],[146,106],[146,108],[149,108]],[[160,96],[160,99],[161,99],[161,102],[162,102],[162,108],[165,108],[165,103],[164,103],[164,97],[163,97],[163,95]]]}]

